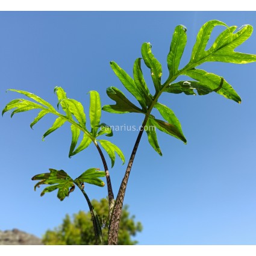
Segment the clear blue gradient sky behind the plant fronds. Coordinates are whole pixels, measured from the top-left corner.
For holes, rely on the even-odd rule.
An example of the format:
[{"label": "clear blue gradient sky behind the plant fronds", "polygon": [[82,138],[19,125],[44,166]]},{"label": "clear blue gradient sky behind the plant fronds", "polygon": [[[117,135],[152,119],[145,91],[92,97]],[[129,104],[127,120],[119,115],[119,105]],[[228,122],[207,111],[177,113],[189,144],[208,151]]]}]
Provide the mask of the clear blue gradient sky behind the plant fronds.
[{"label": "clear blue gradient sky behind the plant fronds", "polygon": [[[0,106],[22,89],[57,104],[55,86],[88,110],[90,90],[101,95],[102,105],[112,104],[105,93],[116,86],[128,96],[110,68],[116,61],[128,73],[140,57],[140,46],[151,42],[167,78],[166,56],[176,25],[187,27],[188,42],[181,66],[189,61],[199,28],[210,19],[238,27],[256,27],[255,12],[2,12],[0,13]],[[214,35],[222,28],[214,29]],[[210,42],[213,42],[211,38]],[[237,51],[256,54],[256,33]],[[140,245],[255,245],[255,70],[256,64],[207,63],[208,72],[223,76],[242,97],[242,104],[211,93],[206,96],[165,94],[160,102],[180,119],[188,143],[158,133],[163,157],[142,137],[134,161],[125,204],[143,223],[136,239]],[[149,87],[149,70],[143,66]],[[129,95],[130,97],[130,95]],[[133,99],[130,97],[133,101]],[[88,119],[89,114],[86,111]],[[56,193],[42,198],[33,191],[31,177],[48,168],[64,169],[75,178],[89,167],[101,167],[96,149],[68,158],[69,125],[42,142],[54,122],[46,116],[34,131],[36,111],[0,118],[1,193],[0,229],[19,228],[42,236],[59,225],[66,213],[88,210],[76,190],[60,202]],[[139,114],[102,113],[102,122],[137,125]],[[126,160],[137,132],[114,133]],[[110,161],[108,161],[110,165]],[[125,167],[117,159],[111,170],[115,195]],[[86,186],[90,198],[107,196],[107,187]]]}]

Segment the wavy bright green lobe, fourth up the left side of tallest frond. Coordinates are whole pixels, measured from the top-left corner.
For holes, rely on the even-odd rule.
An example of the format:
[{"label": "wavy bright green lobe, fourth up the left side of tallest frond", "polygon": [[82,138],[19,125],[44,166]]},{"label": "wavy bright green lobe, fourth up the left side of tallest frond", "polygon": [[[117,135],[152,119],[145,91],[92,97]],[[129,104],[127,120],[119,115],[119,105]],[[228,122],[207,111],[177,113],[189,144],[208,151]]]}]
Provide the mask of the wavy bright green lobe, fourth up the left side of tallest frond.
[{"label": "wavy bright green lobe, fourth up the left side of tallest frond", "polygon": [[152,80],[155,86],[155,91],[158,93],[161,89],[162,67],[160,62],[154,57],[151,52],[151,44],[143,43],[142,57],[147,67],[151,70]]}]

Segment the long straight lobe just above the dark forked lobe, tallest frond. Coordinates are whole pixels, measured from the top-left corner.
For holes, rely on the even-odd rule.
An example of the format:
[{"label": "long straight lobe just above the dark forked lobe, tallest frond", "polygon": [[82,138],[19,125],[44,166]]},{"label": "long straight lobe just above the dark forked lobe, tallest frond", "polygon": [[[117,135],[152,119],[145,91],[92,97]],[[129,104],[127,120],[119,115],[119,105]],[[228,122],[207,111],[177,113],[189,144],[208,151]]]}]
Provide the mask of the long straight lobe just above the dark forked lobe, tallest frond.
[{"label": "long straight lobe just above the dark forked lobe, tallest frond", "polygon": [[146,111],[146,99],[143,97],[142,88],[138,87],[133,78],[121,69],[114,61],[110,62],[111,68],[116,73],[123,86],[139,101],[142,109]]}]

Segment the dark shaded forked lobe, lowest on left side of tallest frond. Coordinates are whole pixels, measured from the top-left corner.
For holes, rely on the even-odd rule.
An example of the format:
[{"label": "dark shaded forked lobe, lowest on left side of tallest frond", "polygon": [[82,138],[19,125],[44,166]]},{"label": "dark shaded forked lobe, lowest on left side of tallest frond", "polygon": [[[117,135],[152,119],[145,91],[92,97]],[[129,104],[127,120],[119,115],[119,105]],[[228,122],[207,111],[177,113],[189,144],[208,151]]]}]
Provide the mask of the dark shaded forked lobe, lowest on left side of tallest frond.
[{"label": "dark shaded forked lobe, lowest on left side of tallest frond", "polygon": [[102,110],[110,112],[110,113],[144,113],[143,110],[136,107],[131,101],[129,101],[125,95],[116,87],[108,87],[107,95],[113,101],[116,101],[116,105],[105,105]]}]

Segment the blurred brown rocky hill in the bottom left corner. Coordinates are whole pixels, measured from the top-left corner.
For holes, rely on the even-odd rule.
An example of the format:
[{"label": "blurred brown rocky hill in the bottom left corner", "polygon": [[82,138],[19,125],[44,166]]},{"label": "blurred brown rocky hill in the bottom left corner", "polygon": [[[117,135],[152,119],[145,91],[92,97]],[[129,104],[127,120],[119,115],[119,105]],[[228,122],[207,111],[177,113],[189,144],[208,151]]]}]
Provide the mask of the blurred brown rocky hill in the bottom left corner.
[{"label": "blurred brown rocky hill in the bottom left corner", "polygon": [[38,237],[14,228],[0,230],[0,245],[43,245],[43,243]]}]

